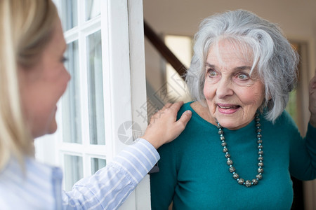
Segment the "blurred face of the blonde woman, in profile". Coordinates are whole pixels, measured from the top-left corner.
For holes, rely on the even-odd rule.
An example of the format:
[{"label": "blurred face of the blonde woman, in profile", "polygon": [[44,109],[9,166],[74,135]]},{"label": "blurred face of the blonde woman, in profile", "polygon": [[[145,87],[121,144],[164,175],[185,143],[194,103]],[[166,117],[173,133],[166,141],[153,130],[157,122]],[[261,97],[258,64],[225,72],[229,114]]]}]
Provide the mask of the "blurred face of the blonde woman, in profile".
[{"label": "blurred face of the blonde woman, in profile", "polygon": [[22,109],[34,138],[57,130],[56,104],[70,80],[63,63],[66,46],[58,20],[51,41],[37,64],[19,71]]}]

